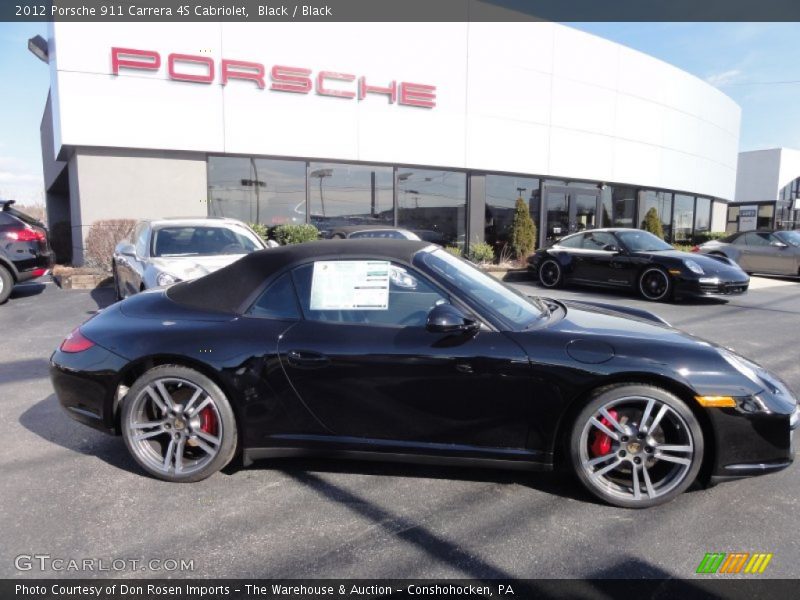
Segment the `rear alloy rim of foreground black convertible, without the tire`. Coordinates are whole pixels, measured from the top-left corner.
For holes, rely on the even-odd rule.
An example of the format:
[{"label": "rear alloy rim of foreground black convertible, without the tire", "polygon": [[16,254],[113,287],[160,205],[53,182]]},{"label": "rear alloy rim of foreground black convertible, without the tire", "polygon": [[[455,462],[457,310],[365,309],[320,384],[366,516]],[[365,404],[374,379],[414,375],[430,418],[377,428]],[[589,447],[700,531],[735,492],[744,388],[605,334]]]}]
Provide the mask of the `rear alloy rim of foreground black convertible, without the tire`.
[{"label": "rear alloy rim of foreground black convertible, without the tire", "polygon": [[131,452],[163,476],[191,476],[219,455],[223,419],[208,391],[177,377],[149,382],[132,400],[124,427]]}]

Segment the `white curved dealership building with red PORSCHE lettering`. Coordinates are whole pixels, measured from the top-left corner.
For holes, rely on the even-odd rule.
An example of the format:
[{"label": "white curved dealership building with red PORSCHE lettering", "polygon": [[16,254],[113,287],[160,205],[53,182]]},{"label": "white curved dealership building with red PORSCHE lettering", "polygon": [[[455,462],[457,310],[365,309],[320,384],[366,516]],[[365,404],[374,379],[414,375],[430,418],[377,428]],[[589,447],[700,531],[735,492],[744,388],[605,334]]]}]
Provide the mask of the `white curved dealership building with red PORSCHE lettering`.
[{"label": "white curved dealership building with red PORSCHE lettering", "polygon": [[554,23],[55,23],[42,119],[50,226],[103,219],[396,225],[539,245],[599,226],[724,231],[740,109]]}]

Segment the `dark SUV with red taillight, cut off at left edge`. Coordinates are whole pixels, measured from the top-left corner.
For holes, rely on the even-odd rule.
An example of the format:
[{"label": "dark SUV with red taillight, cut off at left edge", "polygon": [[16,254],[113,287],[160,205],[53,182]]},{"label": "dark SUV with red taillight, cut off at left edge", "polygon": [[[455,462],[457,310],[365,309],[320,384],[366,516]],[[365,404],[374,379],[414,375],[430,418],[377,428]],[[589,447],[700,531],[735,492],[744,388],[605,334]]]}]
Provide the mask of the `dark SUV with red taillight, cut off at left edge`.
[{"label": "dark SUV with red taillight, cut off at left edge", "polygon": [[45,275],[53,266],[53,251],[44,225],[0,200],[0,304],[15,284]]}]

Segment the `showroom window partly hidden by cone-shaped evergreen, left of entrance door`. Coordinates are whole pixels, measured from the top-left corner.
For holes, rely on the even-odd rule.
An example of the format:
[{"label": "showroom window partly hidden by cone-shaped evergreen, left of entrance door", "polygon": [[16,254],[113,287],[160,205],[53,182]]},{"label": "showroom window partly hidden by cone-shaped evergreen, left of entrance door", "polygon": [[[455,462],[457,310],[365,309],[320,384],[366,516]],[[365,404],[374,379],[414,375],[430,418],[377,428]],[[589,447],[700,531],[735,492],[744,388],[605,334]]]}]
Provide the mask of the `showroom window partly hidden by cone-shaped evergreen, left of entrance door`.
[{"label": "showroom window partly hidden by cone-shaped evergreen, left of entrance door", "polygon": [[497,253],[511,241],[511,226],[517,198],[528,205],[536,229],[539,230],[539,180],[531,177],[486,176],[486,242]]}]

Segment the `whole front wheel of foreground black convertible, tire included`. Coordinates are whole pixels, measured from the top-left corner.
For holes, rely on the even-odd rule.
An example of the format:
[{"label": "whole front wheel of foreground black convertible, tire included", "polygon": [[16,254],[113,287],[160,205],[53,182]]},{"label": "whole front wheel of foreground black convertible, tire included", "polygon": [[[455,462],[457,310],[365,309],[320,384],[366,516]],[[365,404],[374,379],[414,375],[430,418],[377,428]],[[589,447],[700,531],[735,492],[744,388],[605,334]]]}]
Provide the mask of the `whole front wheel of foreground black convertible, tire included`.
[{"label": "whole front wheel of foreground black convertible, tire included", "polygon": [[[640,430],[644,419],[647,426]],[[691,409],[670,392],[644,384],[597,390],[569,437],[578,480],[600,500],[623,508],[656,506],[682,494],[697,478],[703,451]]]}]

